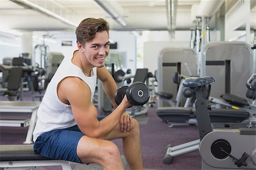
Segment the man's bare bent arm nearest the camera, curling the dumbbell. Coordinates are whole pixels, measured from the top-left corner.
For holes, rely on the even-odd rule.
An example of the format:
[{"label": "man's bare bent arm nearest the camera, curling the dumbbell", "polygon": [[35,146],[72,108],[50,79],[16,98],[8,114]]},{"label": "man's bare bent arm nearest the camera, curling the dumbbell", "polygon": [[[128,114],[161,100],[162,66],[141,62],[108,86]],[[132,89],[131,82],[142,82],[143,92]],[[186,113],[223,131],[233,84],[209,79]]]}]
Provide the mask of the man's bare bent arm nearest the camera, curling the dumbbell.
[{"label": "man's bare bent arm nearest the camera, curling the dumbbell", "polygon": [[129,106],[126,97],[121,104],[103,120],[98,121],[97,109],[91,99],[89,86],[80,78],[69,77],[59,83],[58,96],[71,104],[73,116],[82,133],[88,137],[106,138],[118,125],[125,109]]}]

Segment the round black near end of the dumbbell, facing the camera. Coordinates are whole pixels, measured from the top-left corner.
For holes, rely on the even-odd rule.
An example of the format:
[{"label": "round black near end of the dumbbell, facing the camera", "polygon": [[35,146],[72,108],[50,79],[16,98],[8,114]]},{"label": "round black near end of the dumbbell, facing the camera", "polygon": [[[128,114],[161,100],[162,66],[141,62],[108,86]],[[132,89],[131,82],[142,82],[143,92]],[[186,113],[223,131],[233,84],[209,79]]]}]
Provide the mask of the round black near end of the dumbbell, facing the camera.
[{"label": "round black near end of the dumbbell, facing the camera", "polygon": [[129,102],[133,105],[146,104],[150,98],[150,91],[146,84],[135,82],[126,89],[126,96]]}]

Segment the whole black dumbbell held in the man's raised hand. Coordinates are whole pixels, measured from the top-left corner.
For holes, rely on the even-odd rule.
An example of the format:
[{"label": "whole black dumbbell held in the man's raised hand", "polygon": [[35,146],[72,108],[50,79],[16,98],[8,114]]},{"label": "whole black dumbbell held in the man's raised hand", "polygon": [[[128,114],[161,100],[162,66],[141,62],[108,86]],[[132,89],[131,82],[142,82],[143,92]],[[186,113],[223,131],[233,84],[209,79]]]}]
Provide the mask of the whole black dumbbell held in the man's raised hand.
[{"label": "whole black dumbbell held in the man's raised hand", "polygon": [[133,105],[146,104],[150,98],[150,90],[142,82],[135,82],[130,86],[123,86],[115,92],[115,103],[119,105],[125,95],[130,103],[128,108],[130,108]]}]

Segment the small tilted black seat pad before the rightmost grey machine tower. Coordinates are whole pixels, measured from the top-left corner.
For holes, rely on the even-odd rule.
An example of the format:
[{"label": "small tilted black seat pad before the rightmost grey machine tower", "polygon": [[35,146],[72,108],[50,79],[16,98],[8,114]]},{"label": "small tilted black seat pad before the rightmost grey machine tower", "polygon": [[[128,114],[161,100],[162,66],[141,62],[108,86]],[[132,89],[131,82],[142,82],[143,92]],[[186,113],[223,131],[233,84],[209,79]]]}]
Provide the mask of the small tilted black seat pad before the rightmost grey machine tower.
[{"label": "small tilted black seat pad before the rightmost grey machine tower", "polygon": [[249,105],[246,99],[243,99],[240,96],[232,95],[232,94],[224,94],[220,96],[222,99],[228,101],[228,103],[243,107],[244,105]]}]

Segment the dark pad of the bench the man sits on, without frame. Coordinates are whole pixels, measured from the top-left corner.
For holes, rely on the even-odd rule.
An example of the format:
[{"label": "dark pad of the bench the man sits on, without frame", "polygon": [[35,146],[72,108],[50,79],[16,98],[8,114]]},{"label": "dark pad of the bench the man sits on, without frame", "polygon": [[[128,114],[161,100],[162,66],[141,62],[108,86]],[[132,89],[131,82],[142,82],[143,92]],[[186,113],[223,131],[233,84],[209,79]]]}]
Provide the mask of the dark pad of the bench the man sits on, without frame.
[{"label": "dark pad of the bench the man sits on, without frame", "polygon": [[0,161],[50,160],[34,152],[33,145],[0,145]]}]

